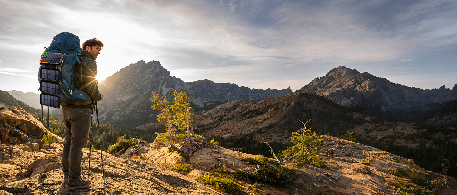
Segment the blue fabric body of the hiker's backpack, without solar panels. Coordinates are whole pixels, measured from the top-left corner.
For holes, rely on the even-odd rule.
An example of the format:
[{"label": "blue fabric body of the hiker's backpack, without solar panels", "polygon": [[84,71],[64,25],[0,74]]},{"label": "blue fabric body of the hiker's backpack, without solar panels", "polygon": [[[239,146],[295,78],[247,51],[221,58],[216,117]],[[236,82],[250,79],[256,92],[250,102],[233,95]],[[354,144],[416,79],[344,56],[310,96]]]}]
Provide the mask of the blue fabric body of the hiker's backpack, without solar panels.
[{"label": "blue fabric body of the hiker's backpack, without solar panels", "polygon": [[[51,45],[46,48],[45,53],[65,53],[65,58],[62,66],[57,68],[61,71],[60,90],[59,90],[59,104],[78,104],[87,105],[92,101],[90,96],[77,89],[73,82],[73,71],[77,64],[81,64],[82,48],[80,47],[80,38],[69,32],[62,32],[54,36]],[[80,66],[82,69],[82,66]],[[38,70],[38,81],[41,81],[41,69],[46,68],[44,65],[40,66]],[[82,71],[81,71],[82,72]],[[82,79],[81,79],[82,80]],[[81,86],[82,84],[80,84]],[[79,102],[75,102],[79,101]]]}]

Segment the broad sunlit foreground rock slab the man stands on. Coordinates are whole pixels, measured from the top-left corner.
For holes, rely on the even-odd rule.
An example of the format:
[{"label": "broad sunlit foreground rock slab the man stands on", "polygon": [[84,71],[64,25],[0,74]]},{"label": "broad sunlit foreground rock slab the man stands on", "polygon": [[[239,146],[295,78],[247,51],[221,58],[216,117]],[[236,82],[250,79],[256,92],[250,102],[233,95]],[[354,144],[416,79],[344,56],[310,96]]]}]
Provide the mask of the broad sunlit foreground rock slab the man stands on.
[{"label": "broad sunlit foreground rock slab the man stands on", "polygon": [[[2,179],[0,195],[2,193],[12,194],[133,194],[133,195],[222,195],[221,193],[203,184],[190,179],[187,176],[176,173],[160,164],[148,160],[130,159],[123,160],[116,158],[106,152],[99,150],[92,151],[90,159],[90,179],[92,183],[89,188],[68,191],[62,182],[63,173],[60,166],[61,151],[59,148],[44,149],[46,155],[37,154],[27,168],[21,173],[20,166],[0,164],[8,167],[7,175],[19,174],[11,180]],[[82,173],[87,176],[89,150],[83,149]],[[101,158],[103,155],[105,179],[102,179]],[[17,161],[26,161],[21,157]],[[138,169],[138,168],[141,169]],[[144,169],[143,169],[144,168]],[[0,169],[1,171],[1,169]],[[22,170],[23,171],[23,170]],[[1,179],[1,178],[0,178]],[[103,184],[103,181],[106,181]],[[132,188],[132,186],[135,186]],[[9,195],[9,194],[8,194]]]}]

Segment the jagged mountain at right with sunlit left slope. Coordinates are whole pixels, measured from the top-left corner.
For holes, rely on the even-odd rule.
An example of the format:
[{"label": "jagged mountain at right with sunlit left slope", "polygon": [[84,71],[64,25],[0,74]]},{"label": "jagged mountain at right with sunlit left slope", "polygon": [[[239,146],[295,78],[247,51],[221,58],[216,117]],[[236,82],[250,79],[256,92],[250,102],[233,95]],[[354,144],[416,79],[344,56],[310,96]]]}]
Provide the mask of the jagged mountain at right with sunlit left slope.
[{"label": "jagged mountain at right with sunlit left slope", "polygon": [[427,110],[428,104],[457,100],[457,84],[452,90],[444,85],[440,89],[422,90],[344,66],[330,70],[300,90],[326,97],[340,105],[361,105],[383,112]]}]

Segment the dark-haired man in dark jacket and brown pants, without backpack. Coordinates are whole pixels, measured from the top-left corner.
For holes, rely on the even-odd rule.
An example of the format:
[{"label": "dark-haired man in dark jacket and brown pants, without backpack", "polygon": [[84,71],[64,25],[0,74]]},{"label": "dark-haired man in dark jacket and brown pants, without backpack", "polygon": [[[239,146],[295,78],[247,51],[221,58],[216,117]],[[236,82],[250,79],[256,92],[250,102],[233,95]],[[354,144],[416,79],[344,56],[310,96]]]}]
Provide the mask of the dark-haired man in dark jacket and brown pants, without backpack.
[{"label": "dark-haired man in dark jacket and brown pants, without backpack", "polygon": [[95,62],[102,47],[103,43],[96,38],[85,41],[81,64],[76,65],[73,72],[75,87],[86,92],[92,101],[74,100],[72,104],[62,106],[65,132],[62,171],[64,172],[64,182],[67,182],[69,190],[90,185],[90,179],[86,180],[81,177],[82,148],[85,147],[89,138],[93,102],[103,100],[103,95],[98,92],[97,64]]}]

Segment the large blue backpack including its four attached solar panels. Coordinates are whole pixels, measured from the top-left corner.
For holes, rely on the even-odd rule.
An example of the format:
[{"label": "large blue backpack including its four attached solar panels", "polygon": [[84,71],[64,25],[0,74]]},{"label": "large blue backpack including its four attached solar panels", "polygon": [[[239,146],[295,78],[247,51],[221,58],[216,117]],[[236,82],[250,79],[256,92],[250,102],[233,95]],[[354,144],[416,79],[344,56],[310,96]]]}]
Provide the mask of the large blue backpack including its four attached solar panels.
[{"label": "large blue backpack including its four attached solar panels", "polygon": [[[60,107],[59,105],[87,105],[91,103],[90,96],[77,89],[73,82],[74,68],[78,64],[82,68],[81,54],[82,48],[80,47],[80,38],[78,36],[69,32],[62,32],[54,36],[53,42],[41,56],[41,66],[38,70],[38,81],[42,92],[40,103],[42,105],[58,108]],[[61,58],[57,57],[56,63],[42,63],[44,61],[43,58],[48,56],[61,56]],[[53,79],[48,78],[48,73],[53,74]],[[59,84],[59,86],[56,84]],[[51,89],[52,87],[54,88]],[[59,88],[58,94],[56,93],[56,88]],[[56,102],[57,96],[58,102]]]}]

